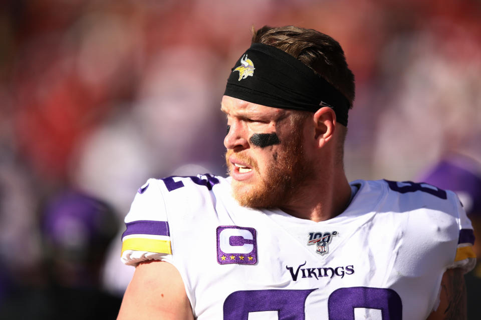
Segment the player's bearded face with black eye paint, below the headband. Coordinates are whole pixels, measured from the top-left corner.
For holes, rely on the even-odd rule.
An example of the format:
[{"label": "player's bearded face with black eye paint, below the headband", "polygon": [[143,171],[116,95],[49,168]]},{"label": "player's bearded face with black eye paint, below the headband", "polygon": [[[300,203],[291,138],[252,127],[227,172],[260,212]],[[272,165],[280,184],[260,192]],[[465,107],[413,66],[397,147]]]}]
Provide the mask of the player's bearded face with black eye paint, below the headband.
[{"label": "player's bearded face with black eye paint, below the headband", "polygon": [[290,110],[225,95],[222,111],[227,115],[225,160],[235,199],[256,208],[288,203],[312,170],[300,120]]}]

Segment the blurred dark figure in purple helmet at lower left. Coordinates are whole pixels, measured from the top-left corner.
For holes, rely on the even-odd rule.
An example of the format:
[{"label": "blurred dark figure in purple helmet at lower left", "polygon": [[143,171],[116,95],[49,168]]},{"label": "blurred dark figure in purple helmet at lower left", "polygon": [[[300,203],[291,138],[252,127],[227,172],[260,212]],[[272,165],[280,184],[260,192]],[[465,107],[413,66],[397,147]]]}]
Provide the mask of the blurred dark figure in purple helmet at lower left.
[{"label": "blurred dark figure in purple helmet at lower left", "polygon": [[0,319],[115,319],[121,299],[101,288],[100,272],[117,221],[109,204],[85,193],[48,198],[41,218],[43,281],[17,285]]}]

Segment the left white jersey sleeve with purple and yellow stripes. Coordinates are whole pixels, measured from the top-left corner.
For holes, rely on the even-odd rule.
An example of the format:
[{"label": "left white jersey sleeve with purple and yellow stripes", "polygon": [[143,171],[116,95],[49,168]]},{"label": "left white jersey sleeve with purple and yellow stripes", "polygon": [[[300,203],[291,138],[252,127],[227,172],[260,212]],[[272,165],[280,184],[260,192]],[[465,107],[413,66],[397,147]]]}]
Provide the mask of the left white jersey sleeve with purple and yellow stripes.
[{"label": "left white jersey sleeve with purple and yellow stripes", "polygon": [[170,231],[161,180],[148,179],[142,185],[125,216],[122,234],[122,262],[136,265],[145,260],[172,260]]}]

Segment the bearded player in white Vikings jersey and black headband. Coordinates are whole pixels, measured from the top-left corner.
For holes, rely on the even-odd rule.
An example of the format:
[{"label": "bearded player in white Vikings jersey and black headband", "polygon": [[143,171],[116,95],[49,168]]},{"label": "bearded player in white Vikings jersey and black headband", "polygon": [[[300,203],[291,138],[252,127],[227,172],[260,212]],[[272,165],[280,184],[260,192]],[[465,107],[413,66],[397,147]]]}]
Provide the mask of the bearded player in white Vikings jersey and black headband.
[{"label": "bearded player in white Vikings jersey and black headband", "polygon": [[473,231],[455,193],[349,183],[354,76],[339,43],[294,26],[252,42],[221,102],[230,176],[138,190],[119,319],[464,319]]}]

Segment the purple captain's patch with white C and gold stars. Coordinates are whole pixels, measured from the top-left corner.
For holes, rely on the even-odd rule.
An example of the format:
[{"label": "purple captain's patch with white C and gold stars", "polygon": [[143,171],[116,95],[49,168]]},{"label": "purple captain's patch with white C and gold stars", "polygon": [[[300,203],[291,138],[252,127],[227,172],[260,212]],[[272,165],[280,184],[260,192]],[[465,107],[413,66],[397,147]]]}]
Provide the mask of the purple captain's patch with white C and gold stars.
[{"label": "purple captain's patch with white C and gold stars", "polygon": [[218,226],[217,262],[255,264],[257,262],[256,229],[236,225]]}]

